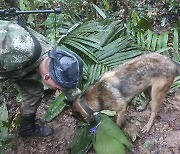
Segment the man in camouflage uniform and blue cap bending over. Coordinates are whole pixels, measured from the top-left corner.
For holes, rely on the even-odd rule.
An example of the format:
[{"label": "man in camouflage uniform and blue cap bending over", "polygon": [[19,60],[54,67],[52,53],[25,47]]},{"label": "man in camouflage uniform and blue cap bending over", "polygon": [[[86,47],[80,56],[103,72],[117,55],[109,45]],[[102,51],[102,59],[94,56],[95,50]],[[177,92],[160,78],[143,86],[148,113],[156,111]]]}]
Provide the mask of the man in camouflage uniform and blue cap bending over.
[{"label": "man in camouflage uniform and blue cap bending over", "polygon": [[[33,63],[28,61],[39,51],[30,33],[39,40],[42,50]],[[52,128],[35,124],[43,83],[52,90],[64,91],[73,101],[80,94],[76,86],[82,78],[82,60],[75,53],[54,49],[44,36],[16,21],[0,20],[0,36],[0,80],[13,82],[22,96],[19,135],[51,135]]]}]

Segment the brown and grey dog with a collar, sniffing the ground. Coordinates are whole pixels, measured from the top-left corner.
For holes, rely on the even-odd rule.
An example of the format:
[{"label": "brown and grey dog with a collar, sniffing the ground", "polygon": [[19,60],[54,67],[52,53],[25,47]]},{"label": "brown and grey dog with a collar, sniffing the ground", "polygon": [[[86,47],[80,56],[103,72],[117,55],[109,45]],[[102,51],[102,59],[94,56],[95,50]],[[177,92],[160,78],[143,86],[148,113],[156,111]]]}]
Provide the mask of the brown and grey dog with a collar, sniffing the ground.
[{"label": "brown and grey dog with a collar, sniffing the ground", "polygon": [[159,106],[171,87],[174,78],[180,75],[180,64],[158,53],[145,54],[106,72],[75,100],[73,111],[85,121],[92,120],[93,113],[104,109],[117,112],[116,124],[121,126],[128,102],[141,92],[146,101],[140,109],[152,101],[151,116],[143,128],[148,132]]}]

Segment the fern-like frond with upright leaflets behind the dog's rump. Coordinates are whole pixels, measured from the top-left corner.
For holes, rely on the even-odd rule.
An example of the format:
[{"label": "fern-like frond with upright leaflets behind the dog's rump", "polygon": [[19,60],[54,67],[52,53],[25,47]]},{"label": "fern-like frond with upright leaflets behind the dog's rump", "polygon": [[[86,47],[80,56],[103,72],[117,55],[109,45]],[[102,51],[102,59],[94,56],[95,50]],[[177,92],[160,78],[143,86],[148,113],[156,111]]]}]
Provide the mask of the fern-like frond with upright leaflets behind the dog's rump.
[{"label": "fern-like frond with upright leaflets behind the dog's rump", "polygon": [[[168,57],[172,57],[176,61],[180,61],[180,53],[178,52],[179,33],[177,28],[174,28],[173,33],[166,31],[161,34],[156,34],[152,30],[144,32],[140,29],[134,28],[131,24],[128,24],[127,27],[129,34],[134,36],[138,47],[143,50],[158,52]],[[121,60],[121,62],[123,62],[123,60]],[[171,90],[178,87],[180,87],[180,81],[179,77],[176,77],[171,86]]]}]

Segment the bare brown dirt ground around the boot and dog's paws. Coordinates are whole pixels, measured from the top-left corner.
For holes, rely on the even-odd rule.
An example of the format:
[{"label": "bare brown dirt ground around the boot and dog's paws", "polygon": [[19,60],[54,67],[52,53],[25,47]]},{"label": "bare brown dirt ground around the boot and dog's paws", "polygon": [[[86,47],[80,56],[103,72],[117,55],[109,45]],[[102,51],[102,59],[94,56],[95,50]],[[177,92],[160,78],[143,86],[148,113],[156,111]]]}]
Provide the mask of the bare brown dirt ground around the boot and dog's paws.
[{"label": "bare brown dirt ground around the boot and dog's paws", "polygon": [[[49,97],[49,96],[48,96]],[[10,97],[14,98],[14,97]],[[44,99],[37,112],[37,121],[43,121],[48,99]],[[14,105],[16,108],[17,105]],[[9,110],[12,112],[12,109]],[[14,109],[15,111],[15,109]],[[71,141],[75,134],[77,120],[71,115],[71,108],[65,109],[49,126],[54,134],[47,138],[22,138],[18,135],[13,139],[6,154],[69,154]],[[150,107],[137,112],[130,106],[123,131],[133,143],[130,154],[179,154],[180,153],[180,90],[168,95],[155,120],[149,134],[142,134],[141,129],[150,115]],[[16,131],[15,131],[16,132]],[[90,149],[88,154],[95,154]]]}]

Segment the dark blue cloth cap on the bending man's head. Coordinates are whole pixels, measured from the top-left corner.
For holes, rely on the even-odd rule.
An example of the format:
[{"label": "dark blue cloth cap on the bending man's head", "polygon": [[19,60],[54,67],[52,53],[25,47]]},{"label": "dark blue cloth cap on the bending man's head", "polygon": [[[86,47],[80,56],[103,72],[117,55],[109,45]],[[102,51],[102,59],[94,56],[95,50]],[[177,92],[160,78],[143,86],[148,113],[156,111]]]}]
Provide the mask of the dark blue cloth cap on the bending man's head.
[{"label": "dark blue cloth cap on the bending man's head", "polygon": [[52,80],[65,90],[75,88],[83,77],[83,61],[74,52],[53,49],[48,52],[51,58],[49,74]]}]

